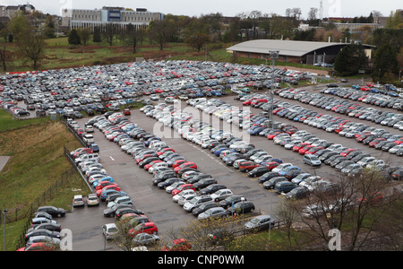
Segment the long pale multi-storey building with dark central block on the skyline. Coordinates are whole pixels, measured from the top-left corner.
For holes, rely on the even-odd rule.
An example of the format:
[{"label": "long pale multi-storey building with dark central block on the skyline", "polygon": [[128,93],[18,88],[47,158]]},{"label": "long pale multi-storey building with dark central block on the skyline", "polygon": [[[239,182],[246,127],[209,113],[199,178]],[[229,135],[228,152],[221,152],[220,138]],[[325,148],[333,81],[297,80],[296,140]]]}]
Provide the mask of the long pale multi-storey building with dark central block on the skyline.
[{"label": "long pale multi-storey building with dark central block on the skyline", "polygon": [[152,21],[164,19],[163,13],[149,12],[144,8],[135,11],[126,10],[124,7],[104,6],[102,9],[64,9],[62,11],[62,27],[64,30],[75,28],[102,28],[108,23],[113,23],[124,29],[128,24],[135,27],[147,26]]}]

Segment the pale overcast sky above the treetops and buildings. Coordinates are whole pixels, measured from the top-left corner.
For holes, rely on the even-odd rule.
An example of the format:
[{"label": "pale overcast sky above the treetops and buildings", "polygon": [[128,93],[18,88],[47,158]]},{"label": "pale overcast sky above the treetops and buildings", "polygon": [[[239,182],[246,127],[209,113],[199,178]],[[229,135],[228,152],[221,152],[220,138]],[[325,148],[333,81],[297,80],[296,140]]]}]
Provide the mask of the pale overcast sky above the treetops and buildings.
[{"label": "pale overcast sky above the treetops and buildings", "polygon": [[[285,15],[287,8],[299,7],[302,18],[306,18],[311,7],[319,9],[321,0],[0,0],[0,4],[32,4],[42,13],[61,14],[63,8],[100,9],[102,6],[123,6],[125,8],[146,8],[151,12],[171,13],[174,15],[200,16],[208,13],[222,13],[224,16],[236,16],[239,13],[260,11]],[[323,17],[368,16],[373,10],[383,16],[391,11],[403,9],[401,0],[322,0]],[[319,15],[319,13],[318,13]]]}]

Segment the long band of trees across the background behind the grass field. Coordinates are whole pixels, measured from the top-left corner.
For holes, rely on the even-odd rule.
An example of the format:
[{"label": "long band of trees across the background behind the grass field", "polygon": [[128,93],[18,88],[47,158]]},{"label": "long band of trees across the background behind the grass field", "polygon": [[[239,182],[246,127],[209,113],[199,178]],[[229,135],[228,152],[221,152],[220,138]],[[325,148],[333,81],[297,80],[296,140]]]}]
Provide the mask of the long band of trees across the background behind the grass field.
[{"label": "long band of trees across the background behind the grass field", "polygon": [[[338,74],[351,75],[365,69],[367,74],[376,74],[385,81],[393,80],[399,75],[399,66],[403,65],[403,19],[400,13],[390,13],[385,29],[372,30],[363,26],[355,32],[348,29],[337,30],[334,23],[323,23],[317,13],[317,8],[311,8],[306,20],[302,19],[300,8],[288,8],[285,16],[261,11],[239,13],[235,17],[224,17],[221,13],[201,14],[199,17],[167,14],[164,20],[153,21],[141,27],[129,24],[123,28],[117,24],[107,24],[94,30],[73,29],[68,32],[68,41],[72,45],[85,46],[92,39],[93,42],[106,41],[108,45],[113,46],[119,39],[123,41],[124,46],[132,47],[135,54],[138,44],[142,45],[146,41],[158,44],[160,50],[163,50],[168,42],[184,42],[200,52],[207,44],[237,43],[252,39],[328,41],[330,38],[335,42],[359,40],[361,43],[376,46],[374,63],[365,61],[360,50],[346,49],[340,56],[338,67],[335,67]],[[381,15],[376,11],[373,13],[376,16]],[[356,17],[354,20],[373,22],[373,13],[368,17]],[[316,27],[300,30],[298,26],[301,22]],[[36,69],[43,53],[44,39],[55,37],[55,24],[53,17],[48,14],[36,13],[34,16],[27,16],[16,13],[7,25],[0,25],[0,28],[3,27],[1,33],[4,39],[18,42],[21,56],[30,60]],[[12,56],[5,48],[0,49],[4,72]],[[352,63],[348,64],[347,61]]]}]

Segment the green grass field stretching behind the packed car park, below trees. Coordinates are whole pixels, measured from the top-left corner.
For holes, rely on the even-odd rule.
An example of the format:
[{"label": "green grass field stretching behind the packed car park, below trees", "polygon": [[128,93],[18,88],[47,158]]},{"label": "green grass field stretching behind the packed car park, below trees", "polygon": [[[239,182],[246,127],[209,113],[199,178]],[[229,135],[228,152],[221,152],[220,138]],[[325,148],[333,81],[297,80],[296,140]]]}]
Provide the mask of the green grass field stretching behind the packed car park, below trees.
[{"label": "green grass field stretching behind the packed car park, below trees", "polygon": [[[109,46],[103,41],[95,43],[90,40],[86,46],[72,46],[68,44],[67,38],[47,39],[46,47],[41,60],[39,61],[39,70],[59,69],[70,67],[81,67],[84,65],[111,65],[117,63],[133,62],[136,58],[144,59],[171,59],[171,60],[195,60],[195,61],[215,61],[230,62],[244,65],[271,65],[270,60],[236,58],[227,53],[226,48],[233,44],[209,44],[207,53],[205,49],[197,52],[185,43],[167,43],[163,50],[159,45],[150,44],[144,41],[137,44],[136,53],[133,54],[133,48],[125,45],[121,40],[116,39],[113,46]],[[0,41],[0,47],[12,51],[13,61],[8,63],[7,72],[26,72],[32,71],[31,63],[21,60],[18,54],[16,43],[7,43]],[[276,62],[276,66],[287,66],[297,68],[309,68],[312,70],[322,70],[322,67],[313,65],[300,65],[293,63]]]}]

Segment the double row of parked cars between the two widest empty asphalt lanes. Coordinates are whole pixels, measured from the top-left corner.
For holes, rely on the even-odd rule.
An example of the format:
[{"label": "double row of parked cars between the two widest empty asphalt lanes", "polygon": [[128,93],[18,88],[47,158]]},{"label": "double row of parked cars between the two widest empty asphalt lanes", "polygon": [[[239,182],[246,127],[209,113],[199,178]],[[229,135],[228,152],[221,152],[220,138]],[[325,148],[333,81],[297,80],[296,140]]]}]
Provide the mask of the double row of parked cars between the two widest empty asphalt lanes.
[{"label": "double row of parked cars between the two widest empty asphalt lanes", "polygon": [[[147,113],[149,108],[141,109]],[[165,108],[170,107],[164,103],[164,105],[156,107],[155,112],[160,109],[160,112],[164,113]],[[120,119],[120,129],[125,127],[122,130],[124,132],[116,133],[117,139],[121,141],[122,151],[131,154],[141,169],[149,171],[153,176],[151,179],[153,186],[165,189],[172,195],[175,203],[183,206],[185,212],[193,213],[199,220],[203,220],[221,215],[227,216],[234,212],[239,213],[242,209],[242,213],[254,210],[252,203],[247,202],[240,195],[235,195],[225,185],[219,184],[211,175],[202,173],[196,163],[188,161],[184,156],[176,153],[175,149],[161,141],[157,135],[133,125],[123,115],[116,115],[116,117]],[[190,118],[187,119],[190,120]],[[110,121],[108,123],[106,120],[100,120],[95,126],[98,126],[100,130],[105,130],[107,126],[113,128],[112,126],[116,125],[110,125]],[[127,126],[131,127],[127,128]],[[235,197],[238,198],[236,201],[240,204],[228,206],[235,201],[233,200]],[[244,198],[244,201],[241,201],[240,198]],[[223,204],[225,207],[222,206]],[[249,205],[249,207],[243,208],[244,205]]]}]

